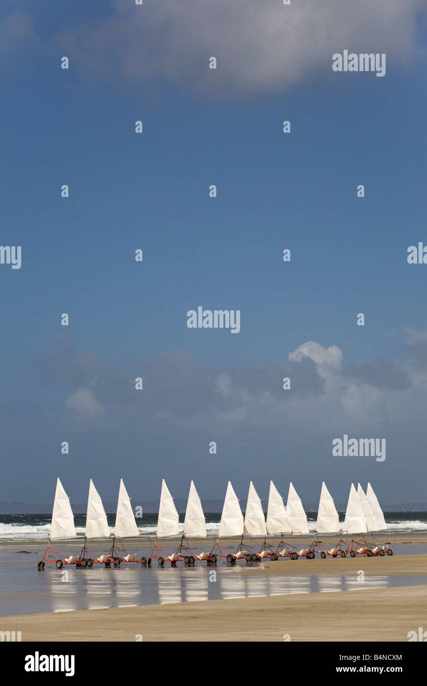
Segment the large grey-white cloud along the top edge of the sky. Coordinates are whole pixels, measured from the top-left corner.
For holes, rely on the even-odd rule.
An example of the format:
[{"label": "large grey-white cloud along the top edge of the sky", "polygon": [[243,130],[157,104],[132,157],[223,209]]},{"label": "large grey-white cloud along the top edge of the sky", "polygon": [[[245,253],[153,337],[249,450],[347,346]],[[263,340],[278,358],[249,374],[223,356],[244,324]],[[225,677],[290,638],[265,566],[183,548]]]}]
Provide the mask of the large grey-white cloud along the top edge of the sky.
[{"label": "large grey-white cloud along the top edge of the sky", "polygon": [[[332,54],[385,52],[410,61],[417,52],[421,0],[162,0],[115,13],[93,27],[58,36],[86,74],[142,83],[164,79],[205,93],[282,91],[319,73],[332,78]],[[210,56],[217,69],[208,69]],[[335,81],[337,74],[333,75]]]}]

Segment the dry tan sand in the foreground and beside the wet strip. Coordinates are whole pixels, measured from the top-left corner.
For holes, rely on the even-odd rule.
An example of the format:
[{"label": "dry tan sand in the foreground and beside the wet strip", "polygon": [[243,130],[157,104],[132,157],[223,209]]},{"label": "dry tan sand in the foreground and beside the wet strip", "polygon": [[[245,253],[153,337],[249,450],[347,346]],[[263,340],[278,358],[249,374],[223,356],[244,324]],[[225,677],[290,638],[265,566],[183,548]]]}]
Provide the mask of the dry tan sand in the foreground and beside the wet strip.
[{"label": "dry tan sand in the foreground and beside the wet strip", "polygon": [[[358,569],[426,575],[427,555],[282,560],[256,573]],[[427,585],[14,615],[1,625],[21,631],[23,641],[407,641],[408,631],[427,627]]]}]

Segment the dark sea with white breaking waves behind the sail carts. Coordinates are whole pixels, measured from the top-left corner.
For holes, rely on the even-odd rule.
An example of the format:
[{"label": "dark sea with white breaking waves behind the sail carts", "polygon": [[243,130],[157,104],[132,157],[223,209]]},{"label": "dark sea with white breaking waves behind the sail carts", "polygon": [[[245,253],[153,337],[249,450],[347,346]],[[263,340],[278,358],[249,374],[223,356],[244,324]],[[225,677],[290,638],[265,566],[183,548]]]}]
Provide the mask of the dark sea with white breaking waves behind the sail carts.
[{"label": "dark sea with white breaking waves behind the sail carts", "polygon": [[[344,512],[339,512],[340,525],[344,522]],[[396,534],[427,533],[427,512],[385,512],[385,521],[390,532]],[[208,538],[215,538],[219,530],[221,512],[206,512],[206,533]],[[107,514],[110,533],[114,532],[115,514]],[[145,512],[136,519],[141,536],[156,536],[157,513]],[[315,532],[317,512],[307,512],[308,528]],[[86,514],[75,514],[75,531],[77,536],[84,536]],[[184,513],[180,514],[180,530],[184,525]],[[51,527],[51,514],[0,514],[1,541],[47,541]]]}]

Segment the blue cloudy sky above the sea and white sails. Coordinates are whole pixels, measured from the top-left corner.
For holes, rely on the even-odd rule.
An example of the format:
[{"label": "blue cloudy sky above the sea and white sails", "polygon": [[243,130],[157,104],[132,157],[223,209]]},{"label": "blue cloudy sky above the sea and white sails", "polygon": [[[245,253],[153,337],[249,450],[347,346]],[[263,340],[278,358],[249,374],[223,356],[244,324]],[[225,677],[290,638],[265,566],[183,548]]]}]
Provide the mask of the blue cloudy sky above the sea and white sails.
[{"label": "blue cloudy sky above the sea and white sails", "polygon": [[[0,501],[49,502],[59,476],[72,502],[121,477],[134,502],[162,478],[176,498],[370,481],[427,502],[427,265],[407,261],[427,245],[426,16],[2,3],[0,242],[21,268],[0,264]],[[385,75],[332,71],[345,49]],[[241,330],[189,329],[199,306]],[[333,456],[345,434],[386,459]]]}]

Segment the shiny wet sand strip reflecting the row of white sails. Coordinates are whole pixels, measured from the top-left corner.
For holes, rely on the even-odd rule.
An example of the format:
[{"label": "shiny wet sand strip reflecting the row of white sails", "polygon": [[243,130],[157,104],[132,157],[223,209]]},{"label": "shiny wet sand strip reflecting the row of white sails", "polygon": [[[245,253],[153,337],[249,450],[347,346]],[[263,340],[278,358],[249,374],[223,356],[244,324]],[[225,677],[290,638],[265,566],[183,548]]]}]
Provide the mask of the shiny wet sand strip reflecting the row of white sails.
[{"label": "shiny wet sand strip reflecting the row of white sails", "polygon": [[[252,569],[232,565],[195,567],[143,567],[120,569],[45,569],[32,577],[29,593],[19,593],[19,576],[26,570],[1,571],[4,615],[69,612],[206,600],[260,598],[297,593],[330,593],[426,583],[425,576],[385,576],[352,573],[263,574],[262,565]],[[33,571],[33,570],[32,570]],[[18,577],[18,578],[17,578]]]}]

